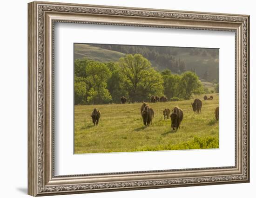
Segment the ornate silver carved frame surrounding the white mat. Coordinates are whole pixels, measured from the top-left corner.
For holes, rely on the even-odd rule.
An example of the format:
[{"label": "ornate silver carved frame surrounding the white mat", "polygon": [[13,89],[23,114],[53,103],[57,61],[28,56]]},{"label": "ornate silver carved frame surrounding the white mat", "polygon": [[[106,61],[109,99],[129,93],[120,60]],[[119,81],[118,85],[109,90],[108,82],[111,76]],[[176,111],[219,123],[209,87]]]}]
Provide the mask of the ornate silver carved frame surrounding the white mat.
[{"label": "ornate silver carved frame surrounding the white mat", "polygon": [[[54,22],[236,32],[235,166],[54,176]],[[28,194],[249,182],[249,16],[52,2],[28,4]]]}]

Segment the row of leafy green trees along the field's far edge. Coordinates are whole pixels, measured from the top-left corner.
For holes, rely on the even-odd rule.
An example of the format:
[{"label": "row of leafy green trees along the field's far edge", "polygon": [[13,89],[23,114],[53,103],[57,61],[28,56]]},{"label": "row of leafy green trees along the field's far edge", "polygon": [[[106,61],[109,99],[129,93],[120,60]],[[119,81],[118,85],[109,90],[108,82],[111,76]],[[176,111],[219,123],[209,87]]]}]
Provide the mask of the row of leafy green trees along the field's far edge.
[{"label": "row of leafy green trees along the field's far edge", "polygon": [[150,96],[168,100],[188,100],[205,90],[192,71],[174,74],[169,69],[156,71],[141,54],[127,54],[117,62],[102,63],[88,58],[74,62],[74,103],[120,103],[149,101]]}]

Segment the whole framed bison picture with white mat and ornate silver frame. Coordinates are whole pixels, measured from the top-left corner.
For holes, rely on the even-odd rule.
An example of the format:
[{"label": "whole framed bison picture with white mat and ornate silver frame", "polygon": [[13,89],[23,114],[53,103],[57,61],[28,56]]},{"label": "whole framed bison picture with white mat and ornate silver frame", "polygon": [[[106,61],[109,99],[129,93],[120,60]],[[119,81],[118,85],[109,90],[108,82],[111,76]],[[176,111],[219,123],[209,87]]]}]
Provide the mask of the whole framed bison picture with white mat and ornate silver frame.
[{"label": "whole framed bison picture with white mat and ornate silver frame", "polygon": [[28,194],[249,182],[249,16],[28,4]]}]

